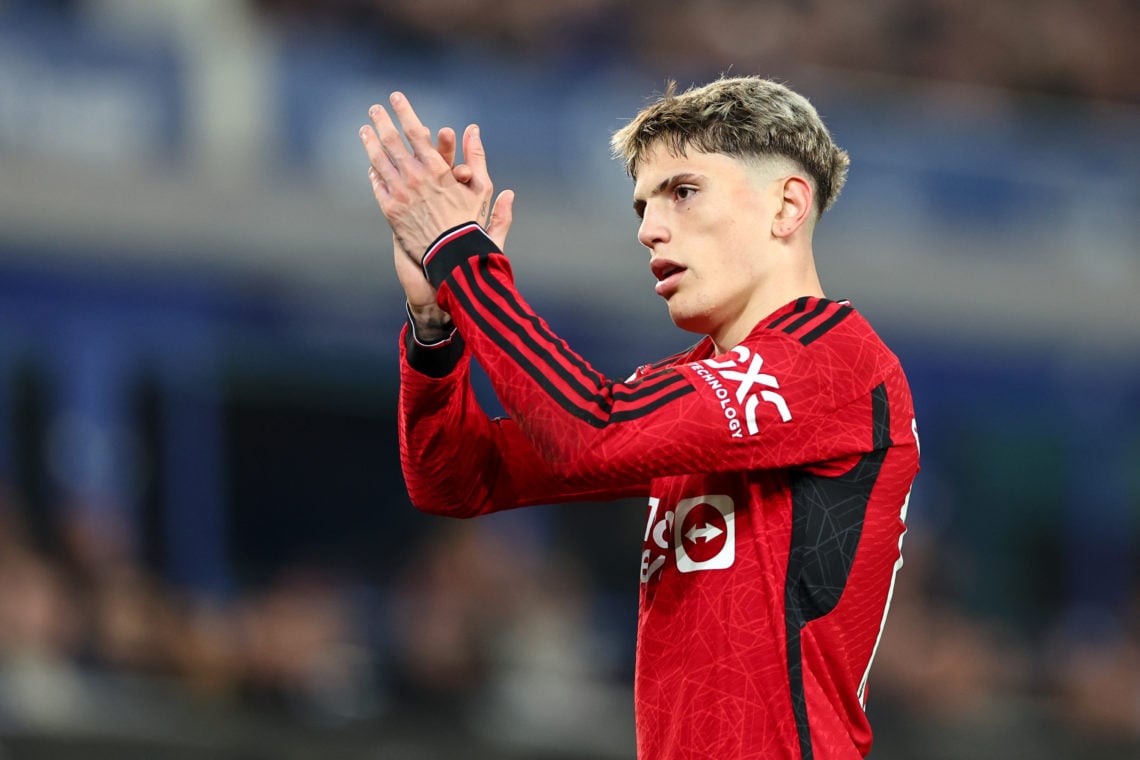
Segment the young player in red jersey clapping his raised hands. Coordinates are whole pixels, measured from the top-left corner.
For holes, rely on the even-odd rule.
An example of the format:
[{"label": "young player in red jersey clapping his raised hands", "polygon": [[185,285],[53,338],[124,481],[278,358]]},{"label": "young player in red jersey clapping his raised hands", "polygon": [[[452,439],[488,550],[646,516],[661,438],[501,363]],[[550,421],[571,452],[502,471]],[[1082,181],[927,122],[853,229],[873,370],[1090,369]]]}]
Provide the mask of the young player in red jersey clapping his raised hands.
[{"label": "young player in red jersey clapping his raised hands", "polygon": [[[361,129],[408,296],[400,456],[421,509],[643,495],[636,713],[645,760],[865,755],[868,671],[918,439],[895,356],[824,297],[812,234],[847,156],[806,99],[722,79],[613,138],[638,239],[691,350],[603,377],[514,287],[478,129],[432,145],[407,99]],[[487,221],[486,230],[481,222]],[[401,251],[402,248],[402,251]],[[510,412],[469,384],[479,359]]]}]

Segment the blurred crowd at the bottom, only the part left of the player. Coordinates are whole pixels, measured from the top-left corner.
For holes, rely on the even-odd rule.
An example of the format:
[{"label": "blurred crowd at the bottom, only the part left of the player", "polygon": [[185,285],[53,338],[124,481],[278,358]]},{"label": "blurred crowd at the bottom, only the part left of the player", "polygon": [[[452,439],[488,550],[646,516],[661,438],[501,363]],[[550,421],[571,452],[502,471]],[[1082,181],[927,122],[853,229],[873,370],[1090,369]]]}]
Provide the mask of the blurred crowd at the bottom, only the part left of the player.
[{"label": "blurred crowd at the bottom, only the part left of the player", "polygon": [[592,620],[589,557],[445,523],[392,577],[286,563],[210,594],[165,580],[108,516],[28,520],[21,493],[0,495],[0,729],[83,725],[100,714],[95,684],[144,679],[317,728],[426,714],[603,757],[632,730],[632,640],[614,651]]}]

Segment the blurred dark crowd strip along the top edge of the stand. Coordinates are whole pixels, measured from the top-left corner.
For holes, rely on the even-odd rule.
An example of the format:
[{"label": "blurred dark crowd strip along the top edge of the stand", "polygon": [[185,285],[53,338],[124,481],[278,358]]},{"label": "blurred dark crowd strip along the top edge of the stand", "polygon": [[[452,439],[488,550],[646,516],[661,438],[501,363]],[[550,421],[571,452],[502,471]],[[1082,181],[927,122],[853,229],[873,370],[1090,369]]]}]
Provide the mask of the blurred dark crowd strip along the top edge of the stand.
[{"label": "blurred dark crowd strip along the top edge of the stand", "polygon": [[1140,99],[1131,0],[254,0],[307,33],[372,30],[408,47],[489,47],[651,71],[822,67],[1029,93]]}]

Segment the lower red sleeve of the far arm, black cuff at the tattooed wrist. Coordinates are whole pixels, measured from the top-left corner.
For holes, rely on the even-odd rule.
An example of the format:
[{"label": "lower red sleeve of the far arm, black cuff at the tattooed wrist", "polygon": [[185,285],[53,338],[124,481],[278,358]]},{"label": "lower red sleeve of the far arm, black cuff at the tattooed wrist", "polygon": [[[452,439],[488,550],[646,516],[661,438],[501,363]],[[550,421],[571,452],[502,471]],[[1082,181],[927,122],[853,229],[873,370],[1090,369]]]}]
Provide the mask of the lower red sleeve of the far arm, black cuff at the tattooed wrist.
[{"label": "lower red sleeve of the far arm, black cuff at the tattooed wrist", "polygon": [[546,466],[511,419],[488,417],[471,387],[471,360],[458,332],[424,344],[409,324],[400,353],[400,466],[416,508],[471,517],[648,492],[592,489],[563,477]]}]

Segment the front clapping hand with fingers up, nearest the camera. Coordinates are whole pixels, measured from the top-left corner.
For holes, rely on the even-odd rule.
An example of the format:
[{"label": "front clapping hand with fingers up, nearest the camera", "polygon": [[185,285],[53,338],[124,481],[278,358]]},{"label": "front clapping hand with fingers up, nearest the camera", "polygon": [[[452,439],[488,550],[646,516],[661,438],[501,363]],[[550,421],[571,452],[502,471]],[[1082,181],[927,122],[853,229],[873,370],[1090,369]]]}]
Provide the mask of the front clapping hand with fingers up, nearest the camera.
[{"label": "front clapping hand with fingers up, nearest the camera", "polygon": [[[469,126],[463,134],[463,154],[471,177],[461,181],[451,162],[432,145],[431,130],[420,122],[407,98],[393,92],[390,101],[399,128],[386,109],[375,105],[368,109],[372,125],[360,128],[360,141],[374,170],[376,202],[400,246],[418,263],[427,246],[445,230],[470,221],[486,224],[495,188],[487,172],[478,126]],[[400,129],[410,150],[400,137]]]}]

